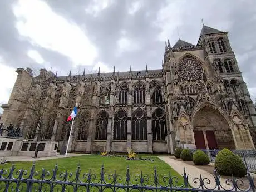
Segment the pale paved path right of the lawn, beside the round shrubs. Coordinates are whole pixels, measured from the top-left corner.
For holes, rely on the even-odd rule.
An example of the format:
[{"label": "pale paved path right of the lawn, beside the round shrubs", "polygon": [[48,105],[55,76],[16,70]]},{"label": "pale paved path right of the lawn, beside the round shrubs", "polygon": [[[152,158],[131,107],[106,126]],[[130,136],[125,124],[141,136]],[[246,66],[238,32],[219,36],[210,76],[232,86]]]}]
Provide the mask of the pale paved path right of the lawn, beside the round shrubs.
[{"label": "pale paved path right of the lawn, beside the round shrubs", "polygon": [[[189,175],[188,176],[188,181],[189,181],[189,184],[191,186],[193,186],[193,188],[198,188],[200,186],[200,174],[201,174],[201,177],[203,179],[205,178],[208,178],[208,179],[205,179],[204,180],[204,185],[206,188],[208,189],[215,189],[216,188],[216,181],[214,179],[214,176],[213,174],[210,174],[208,171],[205,171],[203,169],[199,169],[197,166],[195,165],[189,165],[189,164],[186,164],[185,162],[186,161],[178,161],[175,159],[175,157],[161,157],[159,156],[159,159],[165,161],[165,163],[169,164],[171,166],[171,168],[173,168],[175,171],[177,171],[179,174],[183,175],[183,169],[184,169],[184,166],[185,166],[185,170],[186,170],[186,175]],[[206,166],[214,166],[214,164],[210,164],[210,165],[206,165]],[[254,175],[254,174],[252,174]],[[199,178],[199,179],[195,179],[194,178]],[[227,179],[227,177],[223,178],[222,176],[220,177],[220,185],[223,187],[224,190],[232,190],[232,185],[227,185],[225,183],[225,179]],[[195,181],[197,181],[195,183]],[[210,182],[208,182],[210,181]],[[247,180],[248,181],[248,180]],[[209,183],[209,184],[208,184]],[[248,183],[249,185],[249,183]],[[245,186],[246,186],[246,183],[245,183]]]}]

